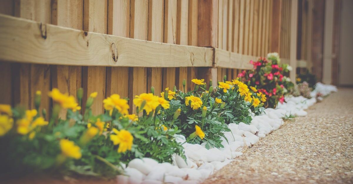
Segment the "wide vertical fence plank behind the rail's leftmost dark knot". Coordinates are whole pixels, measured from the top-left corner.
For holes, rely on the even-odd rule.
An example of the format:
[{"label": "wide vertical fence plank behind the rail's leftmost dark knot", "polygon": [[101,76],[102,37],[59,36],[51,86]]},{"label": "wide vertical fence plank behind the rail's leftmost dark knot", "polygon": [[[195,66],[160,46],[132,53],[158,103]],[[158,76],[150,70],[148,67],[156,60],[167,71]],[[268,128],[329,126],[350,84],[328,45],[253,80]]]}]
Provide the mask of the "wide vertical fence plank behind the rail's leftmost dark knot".
[{"label": "wide vertical fence plank behind the rail's leftmost dark knot", "polygon": [[[14,4],[14,13],[17,17],[51,23],[51,2],[50,0],[19,0]],[[14,103],[34,108],[34,96],[36,91],[39,90],[44,95],[41,100],[41,109],[45,108],[49,112],[50,100],[46,96],[50,90],[49,65],[13,64],[12,73]]]}]

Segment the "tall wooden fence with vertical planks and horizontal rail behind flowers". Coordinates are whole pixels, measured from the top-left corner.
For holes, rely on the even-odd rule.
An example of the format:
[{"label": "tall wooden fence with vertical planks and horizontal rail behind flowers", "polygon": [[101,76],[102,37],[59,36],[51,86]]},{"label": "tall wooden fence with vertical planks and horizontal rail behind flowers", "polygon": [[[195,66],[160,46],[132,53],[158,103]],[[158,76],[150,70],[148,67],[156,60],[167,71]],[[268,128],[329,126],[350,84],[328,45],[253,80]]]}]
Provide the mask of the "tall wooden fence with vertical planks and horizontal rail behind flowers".
[{"label": "tall wooden fence with vertical planks and horizontal rail behind flowers", "polygon": [[[182,89],[183,79],[190,90],[192,78],[234,78],[279,52],[283,2],[0,1],[0,103],[33,108],[37,90],[83,87],[85,98],[98,92],[92,109],[101,113],[113,93],[132,99],[151,86]],[[51,103],[43,97],[42,107]]]}]

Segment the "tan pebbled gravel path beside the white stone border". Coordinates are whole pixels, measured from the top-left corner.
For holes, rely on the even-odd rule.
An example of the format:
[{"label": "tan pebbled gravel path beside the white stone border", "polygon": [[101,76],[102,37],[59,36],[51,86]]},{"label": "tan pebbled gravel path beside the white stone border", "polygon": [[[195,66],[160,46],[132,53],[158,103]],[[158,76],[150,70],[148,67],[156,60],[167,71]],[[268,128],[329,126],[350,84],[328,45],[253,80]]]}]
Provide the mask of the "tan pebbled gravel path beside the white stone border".
[{"label": "tan pebbled gravel path beside the white stone border", "polygon": [[353,89],[339,89],[204,184],[353,183]]}]

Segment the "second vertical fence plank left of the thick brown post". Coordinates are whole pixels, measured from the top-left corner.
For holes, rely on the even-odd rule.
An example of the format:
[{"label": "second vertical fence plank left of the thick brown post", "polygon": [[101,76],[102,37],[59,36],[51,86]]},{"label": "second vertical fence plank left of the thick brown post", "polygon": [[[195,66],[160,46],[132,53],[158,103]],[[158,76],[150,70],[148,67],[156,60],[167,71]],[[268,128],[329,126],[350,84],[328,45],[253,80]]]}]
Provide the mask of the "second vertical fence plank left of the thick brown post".
[{"label": "second vertical fence plank left of the thick brown post", "polygon": [[[189,39],[189,0],[178,1],[177,17],[177,44],[187,45]],[[187,67],[177,68],[175,74],[175,85],[177,86],[177,89],[183,89],[183,79],[187,79]],[[189,81],[186,81],[186,83],[188,82]]]}]

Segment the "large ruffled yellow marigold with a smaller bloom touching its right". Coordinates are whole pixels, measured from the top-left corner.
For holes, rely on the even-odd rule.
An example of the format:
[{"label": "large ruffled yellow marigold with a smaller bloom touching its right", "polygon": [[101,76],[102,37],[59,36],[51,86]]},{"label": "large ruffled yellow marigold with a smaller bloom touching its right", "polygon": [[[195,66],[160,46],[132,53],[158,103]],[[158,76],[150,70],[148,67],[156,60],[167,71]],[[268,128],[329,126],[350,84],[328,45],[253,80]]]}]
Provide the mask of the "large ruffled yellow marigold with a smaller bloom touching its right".
[{"label": "large ruffled yellow marigold with a smaller bloom touching its right", "polygon": [[136,105],[136,107],[141,107],[143,101],[146,101],[146,104],[145,106],[143,106],[143,109],[146,111],[147,114],[150,114],[150,112],[154,111],[156,107],[160,104],[158,102],[158,96],[154,96],[152,93],[142,93],[139,96],[136,95],[133,99],[133,103],[134,105]]}]

